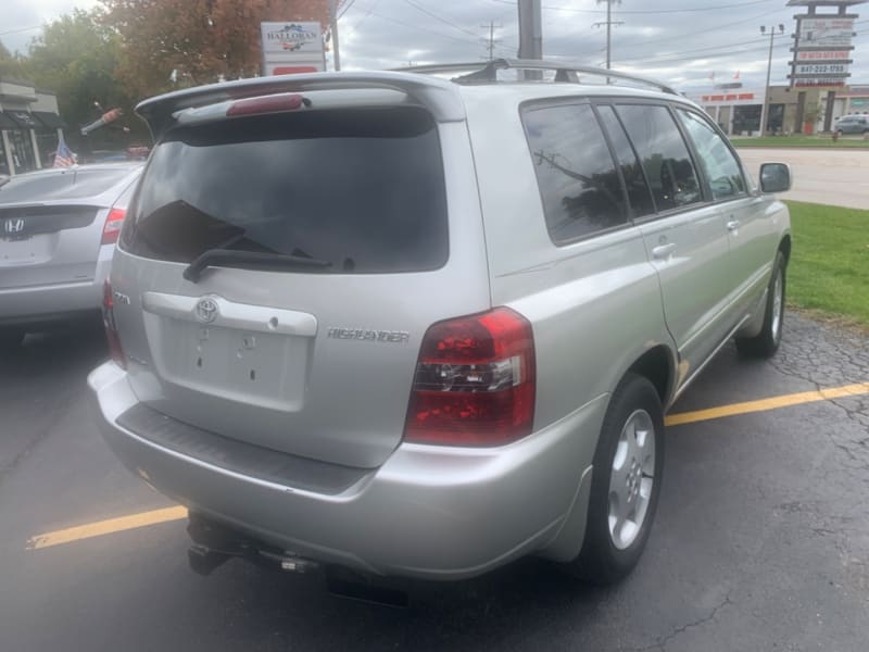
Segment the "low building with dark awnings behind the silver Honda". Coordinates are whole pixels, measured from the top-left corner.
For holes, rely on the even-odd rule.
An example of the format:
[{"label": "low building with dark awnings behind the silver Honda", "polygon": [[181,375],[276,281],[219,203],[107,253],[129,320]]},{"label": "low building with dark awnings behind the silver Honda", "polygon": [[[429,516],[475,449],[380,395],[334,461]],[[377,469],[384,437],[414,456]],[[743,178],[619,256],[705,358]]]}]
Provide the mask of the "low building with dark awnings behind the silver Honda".
[{"label": "low building with dark awnings behind the silver Honda", "polygon": [[50,165],[64,127],[54,93],[0,79],[0,174]]}]

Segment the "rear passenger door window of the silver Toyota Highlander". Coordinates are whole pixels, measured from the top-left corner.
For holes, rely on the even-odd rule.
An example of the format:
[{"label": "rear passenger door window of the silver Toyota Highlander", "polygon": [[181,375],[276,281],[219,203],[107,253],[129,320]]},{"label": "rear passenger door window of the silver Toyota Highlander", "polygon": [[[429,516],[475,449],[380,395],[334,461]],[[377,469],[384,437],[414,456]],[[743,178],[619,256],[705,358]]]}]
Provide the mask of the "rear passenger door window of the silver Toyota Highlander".
[{"label": "rear passenger door window of the silver Toyota Highlander", "polygon": [[700,201],[700,184],[688,146],[666,106],[622,104],[617,111],[640,155],[658,210]]}]

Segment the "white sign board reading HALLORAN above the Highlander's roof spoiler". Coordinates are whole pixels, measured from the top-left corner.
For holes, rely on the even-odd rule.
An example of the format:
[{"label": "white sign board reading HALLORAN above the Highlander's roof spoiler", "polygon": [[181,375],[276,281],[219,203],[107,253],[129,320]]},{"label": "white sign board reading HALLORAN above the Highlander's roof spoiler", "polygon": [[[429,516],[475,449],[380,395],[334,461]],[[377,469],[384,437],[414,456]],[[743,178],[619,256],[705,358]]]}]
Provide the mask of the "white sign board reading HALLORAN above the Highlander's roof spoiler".
[{"label": "white sign board reading HALLORAN above the Highlander's roof spoiler", "polygon": [[326,70],[323,33],[316,22],[261,23],[263,74]]}]

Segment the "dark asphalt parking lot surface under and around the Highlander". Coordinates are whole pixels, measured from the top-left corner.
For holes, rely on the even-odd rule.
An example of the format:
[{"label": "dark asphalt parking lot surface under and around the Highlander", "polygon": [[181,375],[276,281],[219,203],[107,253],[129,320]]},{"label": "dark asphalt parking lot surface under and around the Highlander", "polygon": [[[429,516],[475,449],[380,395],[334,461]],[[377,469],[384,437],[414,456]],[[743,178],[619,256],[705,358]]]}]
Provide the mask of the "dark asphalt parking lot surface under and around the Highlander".
[{"label": "dark asphalt parking lot surface under and around the Highlander", "polygon": [[[681,423],[668,429],[655,528],[621,585],[584,587],[526,560],[461,584],[412,584],[403,610],[241,562],[201,578],[177,516],[93,526],[173,506],[93,427],[85,376],[104,355],[102,334],[81,328],[0,359],[2,651],[869,645],[866,338],[789,314],[772,361],[742,361],[732,347],[714,360],[671,411]],[[100,534],[111,529],[121,531]]]}]

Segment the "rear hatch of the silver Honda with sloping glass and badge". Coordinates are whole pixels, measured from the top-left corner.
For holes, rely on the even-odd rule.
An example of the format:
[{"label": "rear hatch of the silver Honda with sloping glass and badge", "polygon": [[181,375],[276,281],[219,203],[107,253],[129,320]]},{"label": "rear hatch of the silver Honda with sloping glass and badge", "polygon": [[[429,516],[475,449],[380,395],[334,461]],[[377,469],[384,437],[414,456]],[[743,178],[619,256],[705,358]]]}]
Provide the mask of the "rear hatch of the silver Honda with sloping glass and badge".
[{"label": "rear hatch of the silver Honda with sloping glass and badge", "polygon": [[93,280],[105,217],[130,173],[70,168],[0,187],[0,289]]}]

